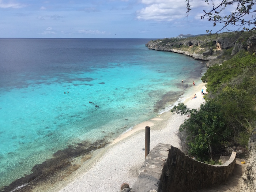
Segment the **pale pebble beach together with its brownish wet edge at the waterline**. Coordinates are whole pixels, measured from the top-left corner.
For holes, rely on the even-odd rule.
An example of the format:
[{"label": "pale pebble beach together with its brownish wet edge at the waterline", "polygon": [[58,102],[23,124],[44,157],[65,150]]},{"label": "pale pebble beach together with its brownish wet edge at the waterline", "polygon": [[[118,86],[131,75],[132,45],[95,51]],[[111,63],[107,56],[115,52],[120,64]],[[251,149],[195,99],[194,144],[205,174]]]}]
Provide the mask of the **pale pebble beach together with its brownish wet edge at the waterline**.
[{"label": "pale pebble beach together with its brownish wet edge at the waterline", "polygon": [[[196,101],[192,103],[204,102],[200,97],[192,100],[191,97],[195,93],[197,96],[202,97],[198,92],[200,92],[205,84],[206,83],[200,83],[191,88],[186,95],[182,95],[183,98],[181,98],[183,103],[187,104],[192,101]],[[188,107],[195,108],[193,105]],[[196,105],[196,108],[198,107],[200,107],[200,104],[199,106],[198,104]],[[103,146],[99,144],[100,147],[93,151],[93,153],[89,152],[86,155],[74,158],[69,162],[70,165],[68,167],[64,167],[60,170],[52,170],[53,177],[45,178],[32,185],[30,185],[30,183],[24,184],[24,186],[27,186],[20,186],[20,188],[18,187],[16,189],[19,191],[26,191],[29,189],[29,191],[33,192],[82,192],[83,189],[86,188],[86,191],[95,191],[95,189],[97,189],[97,191],[104,190],[106,192],[112,192],[113,190],[118,191],[123,182],[127,182],[132,186],[137,180],[140,166],[144,162],[145,152],[142,149],[145,147],[145,127],[149,126],[151,129],[150,138],[154,138],[154,135],[157,138],[155,140],[150,140],[150,150],[158,143],[168,142],[170,142],[168,144],[172,144],[173,146],[180,148],[176,132],[185,118],[186,117],[180,116],[177,119],[177,114],[173,116],[169,110],[158,114],[150,120],[135,125],[132,129],[124,132],[109,143],[105,143]],[[173,124],[175,124],[175,126],[172,126]],[[169,127],[171,128],[168,129]],[[167,135],[169,135],[171,141],[168,141]],[[115,173],[114,175],[112,175],[113,169]],[[108,184],[107,181],[109,178],[112,179]],[[106,182],[105,185],[107,186],[103,185],[104,187],[99,189],[98,187],[102,186],[99,185],[99,183],[102,183],[103,181]],[[80,184],[78,184],[79,182]],[[16,191],[16,189],[13,191]]]}]

